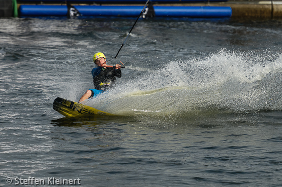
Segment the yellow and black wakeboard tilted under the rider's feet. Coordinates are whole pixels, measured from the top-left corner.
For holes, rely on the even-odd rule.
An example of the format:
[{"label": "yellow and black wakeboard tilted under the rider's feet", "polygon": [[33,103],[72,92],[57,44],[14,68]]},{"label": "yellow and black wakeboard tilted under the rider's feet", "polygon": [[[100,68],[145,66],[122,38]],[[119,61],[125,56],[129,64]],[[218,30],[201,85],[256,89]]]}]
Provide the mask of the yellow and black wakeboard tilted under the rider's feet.
[{"label": "yellow and black wakeboard tilted under the rider's feet", "polygon": [[66,117],[81,117],[90,115],[115,116],[105,111],[92,108],[81,103],[57,97],[53,102],[53,109]]}]

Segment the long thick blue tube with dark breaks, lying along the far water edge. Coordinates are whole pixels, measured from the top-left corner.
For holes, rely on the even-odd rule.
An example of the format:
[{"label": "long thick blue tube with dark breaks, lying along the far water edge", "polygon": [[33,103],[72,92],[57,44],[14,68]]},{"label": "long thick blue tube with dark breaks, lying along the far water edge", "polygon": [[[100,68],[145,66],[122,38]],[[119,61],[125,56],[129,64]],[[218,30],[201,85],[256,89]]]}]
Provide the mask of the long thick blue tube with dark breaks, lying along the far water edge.
[{"label": "long thick blue tube with dark breaks, lying along the far water edge", "polygon": [[[143,6],[74,6],[83,16],[139,16]],[[231,17],[230,7],[168,7],[155,6],[155,17],[223,18]],[[21,17],[67,16],[67,6],[21,5]]]}]

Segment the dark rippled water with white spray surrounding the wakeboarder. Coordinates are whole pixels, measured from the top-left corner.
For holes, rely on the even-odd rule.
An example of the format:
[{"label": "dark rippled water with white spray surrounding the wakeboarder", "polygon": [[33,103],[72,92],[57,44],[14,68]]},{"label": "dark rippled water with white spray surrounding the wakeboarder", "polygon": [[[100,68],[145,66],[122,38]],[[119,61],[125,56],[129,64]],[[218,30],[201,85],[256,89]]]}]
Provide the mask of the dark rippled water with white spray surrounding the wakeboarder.
[{"label": "dark rippled water with white spray surrounding the wakeboarder", "polygon": [[0,186],[281,186],[279,20],[141,19],[119,85],[87,103],[120,117],[52,109],[93,87],[92,55],[114,57],[134,22],[0,19]]}]

